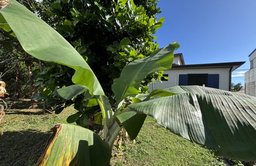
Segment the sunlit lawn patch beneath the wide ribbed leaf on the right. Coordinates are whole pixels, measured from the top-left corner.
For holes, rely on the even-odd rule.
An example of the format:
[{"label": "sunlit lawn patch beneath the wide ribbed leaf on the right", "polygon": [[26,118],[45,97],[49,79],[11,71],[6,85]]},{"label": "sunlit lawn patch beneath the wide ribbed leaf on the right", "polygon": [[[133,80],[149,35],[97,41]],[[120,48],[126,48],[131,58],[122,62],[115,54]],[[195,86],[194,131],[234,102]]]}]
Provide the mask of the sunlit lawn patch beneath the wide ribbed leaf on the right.
[{"label": "sunlit lawn patch beneath the wide ribbed leaf on the right", "polygon": [[[224,166],[214,150],[174,135],[147,117],[136,142],[125,144],[125,150],[114,148],[116,166]],[[123,155],[118,156],[119,153]]]}]

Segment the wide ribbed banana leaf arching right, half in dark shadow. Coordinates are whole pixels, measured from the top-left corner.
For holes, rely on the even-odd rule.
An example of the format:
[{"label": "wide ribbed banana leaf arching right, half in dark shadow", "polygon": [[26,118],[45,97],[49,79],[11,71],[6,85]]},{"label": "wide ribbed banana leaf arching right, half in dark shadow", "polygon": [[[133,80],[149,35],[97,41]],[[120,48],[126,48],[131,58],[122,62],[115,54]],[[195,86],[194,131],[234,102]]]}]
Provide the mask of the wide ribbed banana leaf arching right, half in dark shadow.
[{"label": "wide ribbed banana leaf arching right, half in dark shadow", "polygon": [[201,86],[166,90],[180,94],[128,107],[155,117],[159,125],[174,134],[218,149],[216,155],[256,160],[255,97]]}]

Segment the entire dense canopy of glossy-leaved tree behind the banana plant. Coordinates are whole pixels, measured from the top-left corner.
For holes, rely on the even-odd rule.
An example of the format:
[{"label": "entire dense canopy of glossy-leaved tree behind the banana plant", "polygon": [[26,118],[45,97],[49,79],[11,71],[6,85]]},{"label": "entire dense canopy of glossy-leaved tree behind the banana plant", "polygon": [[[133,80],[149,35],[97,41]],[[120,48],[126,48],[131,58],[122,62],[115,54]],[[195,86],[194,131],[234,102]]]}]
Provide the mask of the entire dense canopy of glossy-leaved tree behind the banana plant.
[{"label": "entire dense canopy of glossy-leaved tree behind the banana plant", "polygon": [[[127,64],[145,58],[158,50],[159,45],[154,42],[154,39],[157,39],[154,34],[162,26],[164,18],[157,20],[157,14],[161,13],[161,10],[157,8],[156,2],[156,0],[20,1],[74,46],[95,73],[112,107],[116,104],[111,90],[113,80],[120,77],[122,69]],[[22,55],[24,51],[22,48],[20,50]],[[75,108],[82,111],[76,107],[81,105],[79,96],[76,100],[67,102],[56,93],[56,89],[74,84],[72,82],[74,73],[75,70],[70,67],[43,62],[43,70],[40,71],[37,65],[37,69],[33,70],[32,80],[22,83],[26,88],[34,81],[38,87],[37,92],[40,92],[41,86],[45,86],[42,95],[50,99],[47,102],[48,106],[59,105],[55,109],[56,113],[63,110],[61,105],[64,103],[67,107],[73,102]],[[147,84],[159,80],[162,74],[163,71],[148,74],[140,83],[139,93],[148,93]],[[125,101],[131,102],[131,97]],[[98,107],[91,112],[95,112],[96,109]],[[88,113],[88,116],[90,115],[91,113]]]}]

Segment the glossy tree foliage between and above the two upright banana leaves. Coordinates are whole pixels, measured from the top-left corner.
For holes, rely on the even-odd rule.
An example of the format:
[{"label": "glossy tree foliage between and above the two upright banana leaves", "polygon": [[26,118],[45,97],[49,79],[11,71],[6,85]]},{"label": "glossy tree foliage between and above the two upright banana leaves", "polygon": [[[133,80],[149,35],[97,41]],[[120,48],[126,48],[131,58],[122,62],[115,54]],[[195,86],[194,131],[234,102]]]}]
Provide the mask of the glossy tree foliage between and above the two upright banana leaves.
[{"label": "glossy tree foliage between and above the two upright banana leaves", "polygon": [[[153,34],[164,19],[157,21],[161,10],[155,0],[51,2],[53,15],[62,20],[57,30],[90,65],[109,98],[114,96],[111,85],[121,70],[158,49]],[[145,93],[147,84],[158,77],[158,72],[147,76],[139,92]]]}]

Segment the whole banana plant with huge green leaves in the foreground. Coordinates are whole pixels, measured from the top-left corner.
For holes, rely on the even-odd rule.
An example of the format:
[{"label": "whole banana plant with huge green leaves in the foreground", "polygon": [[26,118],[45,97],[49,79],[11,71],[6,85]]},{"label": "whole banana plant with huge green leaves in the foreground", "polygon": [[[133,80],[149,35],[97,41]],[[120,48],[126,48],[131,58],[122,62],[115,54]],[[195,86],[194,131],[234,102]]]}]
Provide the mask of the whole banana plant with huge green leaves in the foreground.
[{"label": "whole banana plant with huge green leaves in the foreground", "polygon": [[[129,1],[136,11],[133,1]],[[156,89],[150,94],[138,94],[140,82],[147,74],[172,67],[173,52],[178,49],[178,43],[167,45],[124,67],[112,85],[117,99],[117,107],[113,110],[97,77],[80,54],[28,9],[15,0],[0,6],[0,27],[16,36],[23,49],[33,57],[76,70],[72,77],[76,85],[58,89],[59,96],[66,100],[82,96],[81,110],[95,104],[101,108],[103,139],[80,126],[55,126],[37,166],[106,166],[121,129],[124,127],[129,137],[135,139],[147,115],[176,135],[217,149],[216,155],[244,161],[256,160],[255,97],[201,86],[175,86]],[[121,110],[124,99],[131,96],[133,103]],[[151,100],[154,97],[159,98]],[[88,117],[83,112],[69,119],[79,117],[81,124],[86,124]]]}]

